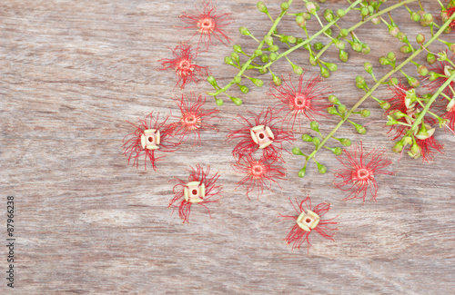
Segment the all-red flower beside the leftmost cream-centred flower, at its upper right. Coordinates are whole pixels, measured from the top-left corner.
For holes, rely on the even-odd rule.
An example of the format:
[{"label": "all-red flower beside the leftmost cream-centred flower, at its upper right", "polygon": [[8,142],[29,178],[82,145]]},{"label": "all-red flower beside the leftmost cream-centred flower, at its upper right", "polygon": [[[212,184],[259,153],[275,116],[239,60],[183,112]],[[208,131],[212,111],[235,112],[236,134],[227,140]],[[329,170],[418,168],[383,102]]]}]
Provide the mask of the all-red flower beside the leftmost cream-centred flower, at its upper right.
[{"label": "all-red flower beside the leftmost cream-centred flower, at its upper right", "polygon": [[217,118],[212,115],[219,113],[219,110],[203,109],[206,97],[199,95],[196,98],[196,94],[193,92],[190,95],[189,99],[183,93],[181,99],[177,96],[174,97],[174,102],[177,103],[181,116],[178,118],[179,122],[173,123],[172,126],[175,129],[174,133],[181,136],[181,141],[185,142],[189,134],[193,133],[195,144],[198,144],[200,143],[201,130],[217,130],[211,121]]}]

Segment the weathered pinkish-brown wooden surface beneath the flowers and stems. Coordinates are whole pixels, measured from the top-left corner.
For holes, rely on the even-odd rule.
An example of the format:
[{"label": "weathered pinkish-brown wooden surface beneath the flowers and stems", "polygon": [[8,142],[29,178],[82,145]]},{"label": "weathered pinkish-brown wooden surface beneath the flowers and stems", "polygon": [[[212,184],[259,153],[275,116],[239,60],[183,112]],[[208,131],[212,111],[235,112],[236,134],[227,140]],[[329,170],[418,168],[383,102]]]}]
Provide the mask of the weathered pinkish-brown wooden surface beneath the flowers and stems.
[{"label": "weathered pinkish-brown wooden surface beneath the flowers and stems", "polygon": [[[268,30],[267,16],[254,1],[218,1],[219,12],[236,20],[227,31],[233,44],[251,52],[254,41],[238,34],[248,25],[257,36]],[[267,1],[277,15],[279,1]],[[300,2],[296,2],[301,7]],[[344,2],[322,5],[332,9]],[[396,3],[389,1],[387,5]],[[320,175],[314,164],[304,179],[297,172],[302,158],[285,155],[288,181],[260,200],[248,201],[236,183],[241,175],[230,169],[232,144],[225,143],[228,128],[237,127],[235,116],[257,112],[276,100],[267,87],[250,87],[242,106],[225,100],[218,133],[202,134],[202,146],[186,143],[158,163],[158,172],[128,166],[121,141],[131,132],[128,121],[154,111],[177,113],[172,71],[157,72],[158,59],[170,57],[168,47],[185,41],[189,32],[178,30],[183,10],[193,11],[193,1],[32,1],[0,3],[1,211],[7,195],[15,196],[15,290],[6,288],[6,247],[0,250],[2,294],[449,294],[455,290],[455,175],[450,133],[437,132],[444,153],[424,163],[390,152],[392,142],[383,123],[369,124],[359,136],[343,126],[339,136],[363,140],[366,149],[385,147],[396,176],[379,177],[378,202],[343,202],[333,187],[333,169],[339,167],[329,152],[318,160],[329,172]],[[424,3],[437,14],[436,3]],[[296,5],[294,5],[296,6]],[[335,8],[333,8],[335,7]],[[416,5],[410,5],[417,10]],[[394,13],[401,29],[414,41],[420,26],[408,13]],[[348,16],[344,27],[354,25]],[[318,25],[311,23],[310,31]],[[300,35],[292,17],[278,27]],[[356,31],[368,42],[369,56],[355,54],[340,64],[329,50],[326,61],[339,64],[329,78],[331,91],[348,106],[362,95],[354,78],[363,63],[378,64],[399,42],[384,25],[363,25]],[[425,31],[427,37],[428,30]],[[454,34],[445,37],[454,40]],[[323,40],[323,39],[321,39]],[[325,41],[325,40],[323,40]],[[433,48],[437,50],[438,48]],[[226,46],[211,47],[197,58],[208,65],[219,84],[237,72],[223,64]],[[292,54],[310,73],[308,53]],[[398,54],[399,60],[403,55]],[[285,61],[272,69],[290,73]],[[414,66],[407,67],[415,73]],[[378,68],[377,76],[385,74]],[[254,74],[256,75],[256,74]],[[266,84],[270,76],[264,76]],[[370,80],[368,80],[371,82]],[[250,84],[248,84],[250,86]],[[207,83],[189,84],[205,93]],[[240,96],[238,90],[232,94]],[[382,87],[379,98],[388,98]],[[208,98],[207,105],[215,107]],[[369,119],[380,120],[382,111],[366,103]],[[321,121],[328,133],[337,123]],[[305,122],[304,131],[308,132]],[[301,133],[296,133],[299,137]],[[334,143],[332,143],[335,145]],[[298,140],[304,152],[311,146]],[[210,165],[221,174],[223,198],[210,204],[212,219],[202,208],[191,212],[182,225],[167,204],[172,197],[172,177],[187,178],[188,166]],[[285,241],[288,222],[278,213],[292,214],[288,197],[309,194],[314,203],[331,202],[328,216],[339,215],[336,242],[311,235],[314,247],[291,251]],[[2,213],[5,242],[5,214]]]}]

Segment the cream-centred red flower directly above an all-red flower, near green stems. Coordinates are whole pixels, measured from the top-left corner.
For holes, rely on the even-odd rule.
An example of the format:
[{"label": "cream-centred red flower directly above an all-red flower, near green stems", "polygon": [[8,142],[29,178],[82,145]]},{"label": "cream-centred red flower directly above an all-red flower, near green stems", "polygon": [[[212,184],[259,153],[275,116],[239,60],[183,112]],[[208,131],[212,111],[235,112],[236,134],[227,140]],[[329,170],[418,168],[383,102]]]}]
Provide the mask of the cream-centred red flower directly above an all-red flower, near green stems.
[{"label": "cream-centred red flower directly above an all-red flower, near green stems", "polygon": [[262,157],[267,160],[280,158],[283,143],[294,141],[294,135],[277,127],[278,118],[270,107],[258,115],[250,114],[252,116],[249,118],[238,114],[242,121],[237,120],[237,122],[243,127],[227,134],[227,142],[240,139],[232,152],[234,157],[239,159],[262,150]]}]

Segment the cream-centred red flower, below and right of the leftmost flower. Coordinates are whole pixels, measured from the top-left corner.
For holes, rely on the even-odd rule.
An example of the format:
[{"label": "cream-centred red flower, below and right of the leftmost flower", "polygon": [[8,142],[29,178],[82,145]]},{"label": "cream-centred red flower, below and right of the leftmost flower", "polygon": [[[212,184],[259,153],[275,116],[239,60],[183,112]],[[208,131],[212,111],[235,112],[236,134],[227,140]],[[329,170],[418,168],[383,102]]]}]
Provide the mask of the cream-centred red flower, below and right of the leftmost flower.
[{"label": "cream-centred red flower, below and right of the leftmost flower", "polygon": [[210,166],[207,167],[207,170],[200,165],[196,165],[196,168],[190,167],[190,174],[188,177],[188,182],[184,182],[179,179],[175,179],[177,182],[172,189],[175,196],[169,202],[169,207],[174,206],[178,208],[178,216],[183,220],[183,223],[189,222],[189,213],[191,211],[192,204],[198,204],[207,209],[208,215],[210,218],[210,211],[208,210],[206,204],[209,202],[218,202],[217,200],[209,200],[210,198],[219,195],[221,192],[221,185],[215,185],[219,174],[215,173],[210,174]]}]

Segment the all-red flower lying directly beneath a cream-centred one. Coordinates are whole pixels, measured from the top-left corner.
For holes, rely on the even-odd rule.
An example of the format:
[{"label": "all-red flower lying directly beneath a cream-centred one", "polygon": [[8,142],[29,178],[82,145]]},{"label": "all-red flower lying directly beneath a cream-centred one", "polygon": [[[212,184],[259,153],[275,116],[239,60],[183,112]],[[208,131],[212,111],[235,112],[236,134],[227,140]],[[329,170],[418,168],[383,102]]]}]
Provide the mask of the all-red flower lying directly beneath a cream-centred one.
[{"label": "all-red flower lying directly beneath a cream-centred one", "polygon": [[[264,159],[257,161],[250,156],[247,156],[242,157],[238,162],[231,164],[234,171],[246,174],[246,176],[238,182],[238,186],[242,185],[247,188],[248,199],[250,192],[258,190],[259,199],[259,196],[264,192],[264,187],[271,191],[272,182],[278,184],[277,180],[285,180],[286,169],[276,164],[276,162],[276,159],[271,162]],[[281,187],[279,186],[279,188]]]}]

